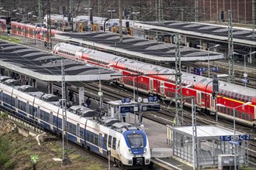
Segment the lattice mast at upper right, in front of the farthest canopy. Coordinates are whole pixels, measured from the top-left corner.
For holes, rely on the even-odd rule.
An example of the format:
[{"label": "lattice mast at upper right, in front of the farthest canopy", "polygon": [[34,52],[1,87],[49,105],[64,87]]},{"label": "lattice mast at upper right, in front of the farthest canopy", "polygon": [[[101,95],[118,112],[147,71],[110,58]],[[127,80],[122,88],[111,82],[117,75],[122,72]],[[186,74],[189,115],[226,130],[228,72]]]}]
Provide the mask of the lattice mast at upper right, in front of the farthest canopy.
[{"label": "lattice mast at upper right, in front of the farthest canopy", "polygon": [[229,63],[229,82],[234,83],[234,43],[233,43],[233,24],[232,12],[228,11],[228,63]]}]

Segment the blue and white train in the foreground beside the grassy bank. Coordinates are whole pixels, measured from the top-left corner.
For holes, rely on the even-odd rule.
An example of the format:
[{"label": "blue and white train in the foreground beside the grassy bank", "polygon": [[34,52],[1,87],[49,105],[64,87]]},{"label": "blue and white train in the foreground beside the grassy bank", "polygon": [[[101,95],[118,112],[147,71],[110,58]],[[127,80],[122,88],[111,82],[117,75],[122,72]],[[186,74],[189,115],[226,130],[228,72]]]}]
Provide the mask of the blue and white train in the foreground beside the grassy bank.
[{"label": "blue and white train in the foreground beside the grassy bank", "polygon": [[[1,110],[12,112],[27,121],[36,122],[55,134],[62,134],[62,109],[20,88],[0,83]],[[144,131],[112,117],[95,119],[97,114],[84,109],[83,114],[67,111],[67,139],[103,157],[111,151],[111,159],[123,168],[147,168],[150,147]]]}]

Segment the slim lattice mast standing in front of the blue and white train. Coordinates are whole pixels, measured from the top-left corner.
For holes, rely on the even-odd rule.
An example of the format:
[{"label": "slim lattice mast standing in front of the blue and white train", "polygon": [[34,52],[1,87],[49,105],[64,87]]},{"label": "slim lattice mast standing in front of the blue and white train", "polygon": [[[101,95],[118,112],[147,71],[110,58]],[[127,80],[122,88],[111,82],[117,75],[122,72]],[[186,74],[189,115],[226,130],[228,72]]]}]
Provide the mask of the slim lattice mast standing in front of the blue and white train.
[{"label": "slim lattice mast standing in front of the blue and white train", "polygon": [[66,99],[66,82],[64,59],[61,59],[61,93],[62,93],[62,164],[67,165],[70,162],[67,150],[67,99]]}]

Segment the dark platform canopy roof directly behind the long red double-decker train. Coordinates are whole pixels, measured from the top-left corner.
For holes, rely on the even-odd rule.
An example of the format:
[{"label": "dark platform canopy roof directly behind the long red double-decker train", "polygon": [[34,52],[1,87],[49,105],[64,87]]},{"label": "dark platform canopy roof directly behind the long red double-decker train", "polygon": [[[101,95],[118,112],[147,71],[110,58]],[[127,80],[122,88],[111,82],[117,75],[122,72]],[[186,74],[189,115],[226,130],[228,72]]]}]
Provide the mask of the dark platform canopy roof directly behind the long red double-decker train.
[{"label": "dark platform canopy roof directly behind the long red double-decker train", "polygon": [[[116,53],[126,53],[154,62],[175,61],[175,44],[156,42],[149,39],[140,39],[123,36],[123,43],[119,42],[119,35],[110,32],[92,33],[65,33],[56,35],[56,38],[95,46]],[[207,60],[208,51],[181,46],[182,61]],[[223,59],[223,54],[209,52],[209,59]]]}]

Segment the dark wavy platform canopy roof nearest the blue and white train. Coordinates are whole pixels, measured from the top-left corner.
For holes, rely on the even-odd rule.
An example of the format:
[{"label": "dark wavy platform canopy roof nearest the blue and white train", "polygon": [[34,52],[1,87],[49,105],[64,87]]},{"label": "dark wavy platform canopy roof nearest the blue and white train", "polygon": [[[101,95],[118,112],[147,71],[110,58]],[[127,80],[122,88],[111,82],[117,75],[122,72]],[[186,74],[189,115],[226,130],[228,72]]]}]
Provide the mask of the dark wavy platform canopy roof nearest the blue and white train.
[{"label": "dark wavy platform canopy roof nearest the blue and white train", "polygon": [[[44,81],[61,81],[61,57],[37,49],[0,41],[0,65]],[[110,80],[115,71],[64,59],[65,80],[78,82]],[[100,73],[100,75],[99,75]]]}]

